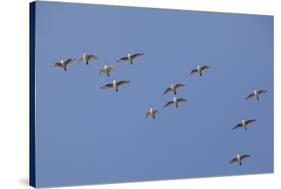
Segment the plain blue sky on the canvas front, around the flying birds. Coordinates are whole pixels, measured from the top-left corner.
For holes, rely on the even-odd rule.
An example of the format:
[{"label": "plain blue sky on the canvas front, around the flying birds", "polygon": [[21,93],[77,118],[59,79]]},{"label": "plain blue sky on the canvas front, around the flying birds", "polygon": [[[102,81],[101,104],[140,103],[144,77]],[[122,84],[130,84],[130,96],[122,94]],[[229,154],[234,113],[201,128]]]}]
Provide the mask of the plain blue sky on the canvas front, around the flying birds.
[{"label": "plain blue sky on the canvas front, around the flying birds", "polygon": [[[37,2],[35,39],[38,186],[273,171],[273,17]],[[83,51],[99,59],[49,67]],[[115,63],[128,51],[144,56]],[[211,69],[191,76],[198,64]],[[100,89],[113,79],[130,83]],[[175,82],[188,102],[163,108]],[[268,93],[245,101],[255,88]],[[241,119],[257,121],[232,130]],[[229,165],[236,153],[251,158]]]}]

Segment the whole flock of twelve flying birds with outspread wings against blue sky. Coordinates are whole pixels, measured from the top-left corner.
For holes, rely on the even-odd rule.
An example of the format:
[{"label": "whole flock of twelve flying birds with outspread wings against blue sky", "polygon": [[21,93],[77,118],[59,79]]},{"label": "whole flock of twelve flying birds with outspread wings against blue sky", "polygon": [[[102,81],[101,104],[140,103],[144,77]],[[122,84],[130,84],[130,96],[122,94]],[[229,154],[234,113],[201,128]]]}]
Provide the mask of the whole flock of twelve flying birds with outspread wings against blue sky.
[{"label": "whole flock of twelve flying birds with outspread wings against blue sky", "polygon": [[[124,63],[130,63],[133,65],[134,60],[137,57],[143,56],[144,53],[130,53],[128,52],[127,56],[121,57],[119,58],[116,62],[124,62]],[[97,56],[95,56],[94,54],[87,54],[87,53],[83,53],[77,60],[77,63],[81,63],[84,62],[87,65],[89,64],[90,61],[94,61],[97,60]],[[63,68],[64,71],[67,71],[67,67],[69,64],[74,63],[76,61],[75,58],[68,58],[66,60],[61,59],[59,62],[56,62],[54,64],[51,64],[51,67],[56,67],[56,68]],[[210,68],[210,66],[200,66],[198,65],[195,69],[192,69],[190,74],[199,74],[200,76],[203,76],[203,71],[208,70]],[[107,77],[110,77],[110,73],[112,70],[115,69],[115,66],[113,65],[104,65],[102,68],[100,68],[99,70],[99,74],[106,74]],[[122,85],[126,85],[128,84],[130,81],[128,80],[120,80],[120,81],[116,81],[113,80],[110,83],[107,83],[103,86],[101,86],[102,89],[114,89],[116,92],[118,92],[118,89],[120,86]],[[178,108],[179,103],[183,103],[183,102],[187,102],[187,100],[185,98],[179,98],[176,97],[177,95],[177,90],[181,87],[184,87],[184,84],[182,83],[175,83],[175,84],[171,84],[168,88],[166,88],[164,90],[163,95],[166,95],[167,93],[173,93],[174,97],[168,101],[165,105],[165,107],[174,105],[176,108]],[[266,93],[266,90],[254,90],[252,91],[246,98],[245,100],[249,100],[251,98],[256,98],[257,101],[260,100],[260,96],[263,95],[264,93]],[[158,108],[154,108],[154,107],[150,107],[146,112],[145,112],[145,117],[152,117],[153,119],[156,118],[156,115],[160,113],[160,110]],[[245,131],[247,130],[247,127],[251,124],[254,123],[256,120],[255,119],[250,119],[250,120],[241,120],[240,123],[238,123],[237,125],[235,125],[233,127],[233,129],[238,129],[238,128],[244,128]],[[249,154],[236,154],[235,157],[229,162],[230,164],[232,163],[238,163],[240,166],[242,165],[242,160],[249,158],[250,155]]]}]

